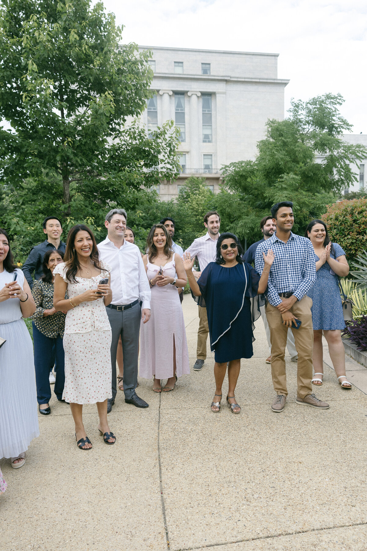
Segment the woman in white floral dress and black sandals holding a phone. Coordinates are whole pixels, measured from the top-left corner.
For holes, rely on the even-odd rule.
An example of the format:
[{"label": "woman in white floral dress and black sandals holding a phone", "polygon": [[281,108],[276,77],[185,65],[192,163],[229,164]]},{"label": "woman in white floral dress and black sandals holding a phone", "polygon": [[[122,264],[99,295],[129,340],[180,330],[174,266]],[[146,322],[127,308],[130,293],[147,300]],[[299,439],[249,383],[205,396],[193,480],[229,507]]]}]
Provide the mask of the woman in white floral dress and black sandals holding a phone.
[{"label": "woman in white floral dress and black sandals holding a phone", "polygon": [[[107,422],[107,398],[111,398],[111,326],[106,308],[112,300],[110,268],[98,258],[91,230],[78,224],[68,233],[64,262],[54,269],[53,305],[68,310],[65,319],[65,386],[63,399],[70,403],[75,438],[81,450],[91,441],[83,425],[83,404],[97,404],[98,430],[106,444],[116,437]],[[100,284],[101,279],[108,283]],[[65,292],[69,299],[65,300]]]}]

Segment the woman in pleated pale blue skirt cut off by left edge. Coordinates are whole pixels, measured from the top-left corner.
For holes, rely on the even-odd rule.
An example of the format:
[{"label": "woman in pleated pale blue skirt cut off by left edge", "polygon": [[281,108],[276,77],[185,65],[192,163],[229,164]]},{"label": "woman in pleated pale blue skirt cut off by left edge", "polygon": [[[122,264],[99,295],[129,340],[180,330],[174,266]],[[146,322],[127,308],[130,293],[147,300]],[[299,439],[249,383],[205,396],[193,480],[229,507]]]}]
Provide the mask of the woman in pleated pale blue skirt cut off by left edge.
[{"label": "woman in pleated pale blue skirt cut off by left edge", "polygon": [[25,452],[39,436],[32,339],[23,318],[36,309],[21,269],[15,267],[9,235],[0,229],[0,458],[23,467]]}]

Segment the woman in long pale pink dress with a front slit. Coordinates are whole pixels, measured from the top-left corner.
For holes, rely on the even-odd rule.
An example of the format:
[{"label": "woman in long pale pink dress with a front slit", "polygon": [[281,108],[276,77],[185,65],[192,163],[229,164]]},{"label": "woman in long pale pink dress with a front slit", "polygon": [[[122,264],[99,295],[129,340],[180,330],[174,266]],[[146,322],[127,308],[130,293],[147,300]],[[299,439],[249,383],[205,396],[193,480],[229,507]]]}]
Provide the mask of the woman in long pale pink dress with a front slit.
[{"label": "woman in long pale pink dress with a front slit", "polygon": [[[171,392],[177,377],[188,374],[189,352],[177,287],[187,277],[165,226],[156,224],[146,240],[143,262],[151,288],[151,318],[140,326],[140,377],[154,377],[154,392]],[[162,267],[162,273],[160,273]],[[161,379],[168,379],[161,386]]]}]

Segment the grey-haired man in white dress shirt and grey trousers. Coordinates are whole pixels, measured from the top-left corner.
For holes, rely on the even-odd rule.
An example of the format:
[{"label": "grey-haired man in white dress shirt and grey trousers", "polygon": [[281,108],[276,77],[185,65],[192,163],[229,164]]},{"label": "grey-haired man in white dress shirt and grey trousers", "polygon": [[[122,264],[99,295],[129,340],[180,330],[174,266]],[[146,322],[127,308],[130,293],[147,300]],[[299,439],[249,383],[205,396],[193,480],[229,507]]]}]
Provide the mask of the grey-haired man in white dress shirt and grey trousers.
[{"label": "grey-haired man in white dress shirt and grey trousers", "polygon": [[[116,352],[120,335],[124,353],[125,402],[138,408],[148,407],[136,395],[135,388],[138,386],[140,319],[143,323],[149,321],[151,293],[139,248],[124,239],[126,220],[124,209],[110,210],[105,221],[107,237],[98,245],[101,260],[111,266],[112,303],[106,306],[106,311],[112,329],[112,399],[108,399],[107,413],[111,411],[117,394]],[[140,301],[143,302],[141,307]]]}]

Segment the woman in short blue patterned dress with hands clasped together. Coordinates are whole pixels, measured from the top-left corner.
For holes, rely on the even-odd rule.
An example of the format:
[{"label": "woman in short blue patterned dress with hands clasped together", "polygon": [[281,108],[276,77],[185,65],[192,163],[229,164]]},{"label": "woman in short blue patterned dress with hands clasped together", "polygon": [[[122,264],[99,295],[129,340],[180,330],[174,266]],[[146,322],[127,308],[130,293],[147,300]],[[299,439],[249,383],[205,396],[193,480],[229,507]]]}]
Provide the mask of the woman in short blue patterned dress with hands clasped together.
[{"label": "woman in short blue patterned dress with hands clasped together", "polygon": [[[327,226],[322,220],[312,220],[306,228],[305,237],[311,241],[315,251],[316,282],[308,293],[312,299],[312,323],[314,327],[313,364],[314,385],[322,385],[324,375],[322,363],[322,332],[327,341],[330,358],[342,388],[352,388],[347,381],[346,360],[341,330],[344,329],[343,307],[339,292],[339,277],[346,277],[349,266],[346,253],[337,243],[332,243]],[[316,377],[318,375],[318,377]]]}]

